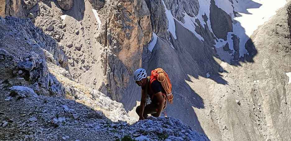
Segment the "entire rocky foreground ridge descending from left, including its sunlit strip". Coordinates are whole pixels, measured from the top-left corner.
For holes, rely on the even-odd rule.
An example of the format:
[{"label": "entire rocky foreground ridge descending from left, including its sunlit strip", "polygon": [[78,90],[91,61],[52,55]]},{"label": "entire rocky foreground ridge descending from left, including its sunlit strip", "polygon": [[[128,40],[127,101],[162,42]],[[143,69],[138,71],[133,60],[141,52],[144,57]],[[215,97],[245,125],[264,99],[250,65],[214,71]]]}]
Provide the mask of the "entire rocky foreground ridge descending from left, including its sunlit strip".
[{"label": "entire rocky foreground ridge descending from left, including its sunlit strip", "polygon": [[172,117],[132,124],[121,103],[74,81],[49,38],[30,19],[0,17],[0,140],[209,141]]}]

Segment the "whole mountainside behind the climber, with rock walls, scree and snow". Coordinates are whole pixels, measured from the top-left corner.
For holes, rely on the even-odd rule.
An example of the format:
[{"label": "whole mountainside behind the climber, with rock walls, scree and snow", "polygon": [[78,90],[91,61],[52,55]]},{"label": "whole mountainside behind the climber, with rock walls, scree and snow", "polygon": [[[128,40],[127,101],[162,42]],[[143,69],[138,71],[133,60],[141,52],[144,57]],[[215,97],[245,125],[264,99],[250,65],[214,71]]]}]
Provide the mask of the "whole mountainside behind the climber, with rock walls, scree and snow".
[{"label": "whole mountainside behind the climber, with rock walls, scree and snow", "polygon": [[210,140],[290,139],[289,1],[0,3],[1,49],[17,63],[42,62],[26,76],[39,95],[83,100],[109,116],[92,104],[99,93],[123,104],[109,119],[134,122],[141,89],[132,73],[161,67],[173,85],[167,115]]}]

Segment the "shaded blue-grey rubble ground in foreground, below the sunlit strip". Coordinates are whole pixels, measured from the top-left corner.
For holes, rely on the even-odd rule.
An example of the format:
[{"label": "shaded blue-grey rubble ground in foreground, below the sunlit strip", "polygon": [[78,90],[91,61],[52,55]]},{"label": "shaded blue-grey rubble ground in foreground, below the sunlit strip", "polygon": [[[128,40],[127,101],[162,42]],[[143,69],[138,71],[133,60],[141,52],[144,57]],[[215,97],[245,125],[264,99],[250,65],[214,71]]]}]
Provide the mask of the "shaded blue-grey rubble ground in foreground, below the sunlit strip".
[{"label": "shaded blue-grey rubble ground in foreground, below the sunlit strip", "polygon": [[[3,78],[0,79],[1,141],[209,140],[206,135],[175,118],[152,118],[132,125],[124,121],[112,122],[102,111],[94,110],[78,100],[38,95],[29,88],[29,82],[25,79],[13,77],[7,72],[11,70],[10,62],[13,61],[0,61]],[[112,108],[106,102],[100,106]]]}]

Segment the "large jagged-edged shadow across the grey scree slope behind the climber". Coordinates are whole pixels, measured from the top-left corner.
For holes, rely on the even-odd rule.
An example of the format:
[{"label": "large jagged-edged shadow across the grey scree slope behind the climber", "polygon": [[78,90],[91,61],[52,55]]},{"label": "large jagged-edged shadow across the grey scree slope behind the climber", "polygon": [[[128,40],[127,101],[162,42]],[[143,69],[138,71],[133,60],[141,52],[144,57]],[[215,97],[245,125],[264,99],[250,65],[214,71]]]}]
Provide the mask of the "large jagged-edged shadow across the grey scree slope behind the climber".
[{"label": "large jagged-edged shadow across the grey scree slope behind the climber", "polygon": [[[250,2],[254,5],[246,7],[245,11],[239,12],[247,13],[248,8],[259,8],[261,6],[261,4],[256,2]],[[143,60],[143,62],[145,62],[143,64],[145,65],[142,67],[147,70],[148,74],[150,74],[151,70],[158,67],[163,68],[169,74],[171,83],[173,84],[174,104],[168,104],[166,109],[167,115],[179,118],[189,124],[193,129],[204,133],[193,109],[204,109],[204,101],[200,96],[201,94],[195,92],[188,82],[193,83],[191,78],[199,79],[200,77],[204,77],[212,79],[216,83],[228,85],[228,82],[220,75],[222,72],[229,73],[220,65],[221,62],[226,62],[232,66],[241,66],[241,63],[247,62],[253,63],[253,57],[257,54],[257,50],[252,40],[244,34],[243,38],[247,42],[245,45],[247,54],[244,54],[244,57],[239,57],[239,48],[237,47],[239,47],[239,43],[243,41],[237,41],[233,43],[237,45],[232,49],[233,52],[224,50],[221,47],[221,54],[224,55],[224,58],[222,58],[220,56],[221,54],[218,54],[217,49],[215,49],[213,42],[201,41],[177,21],[175,21],[175,26],[177,39],[173,40],[174,38],[171,34],[171,43],[162,38],[158,38],[151,53],[151,58]],[[205,25],[204,27],[206,28],[208,26],[209,25]],[[200,27],[202,26],[200,25]],[[243,27],[242,30],[245,32]],[[204,35],[201,36],[203,37]],[[208,40],[210,38],[205,37],[204,39]],[[235,54],[234,51],[238,53]],[[140,93],[140,89],[138,88],[134,90],[134,94],[137,95],[137,93]],[[138,98],[134,100],[131,98],[125,101],[134,101],[135,103],[136,100],[140,100],[140,96],[134,97]],[[124,104],[126,103],[125,101],[123,102]],[[127,110],[132,110],[131,106],[125,105],[125,107]]]}]

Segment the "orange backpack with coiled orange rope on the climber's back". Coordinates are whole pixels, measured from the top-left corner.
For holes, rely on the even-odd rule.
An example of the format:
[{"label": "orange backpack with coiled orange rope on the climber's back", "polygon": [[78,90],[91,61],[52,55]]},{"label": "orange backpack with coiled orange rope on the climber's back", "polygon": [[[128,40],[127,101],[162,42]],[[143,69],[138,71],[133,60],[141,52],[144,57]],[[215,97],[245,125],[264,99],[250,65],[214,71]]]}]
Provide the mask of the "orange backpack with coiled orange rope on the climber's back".
[{"label": "orange backpack with coiled orange rope on the climber's back", "polygon": [[158,80],[162,84],[162,87],[164,88],[166,92],[165,94],[166,94],[167,100],[169,101],[170,104],[173,104],[174,96],[172,94],[172,84],[171,84],[168,74],[161,68],[152,70],[151,75],[150,75],[150,85],[155,80]]}]

